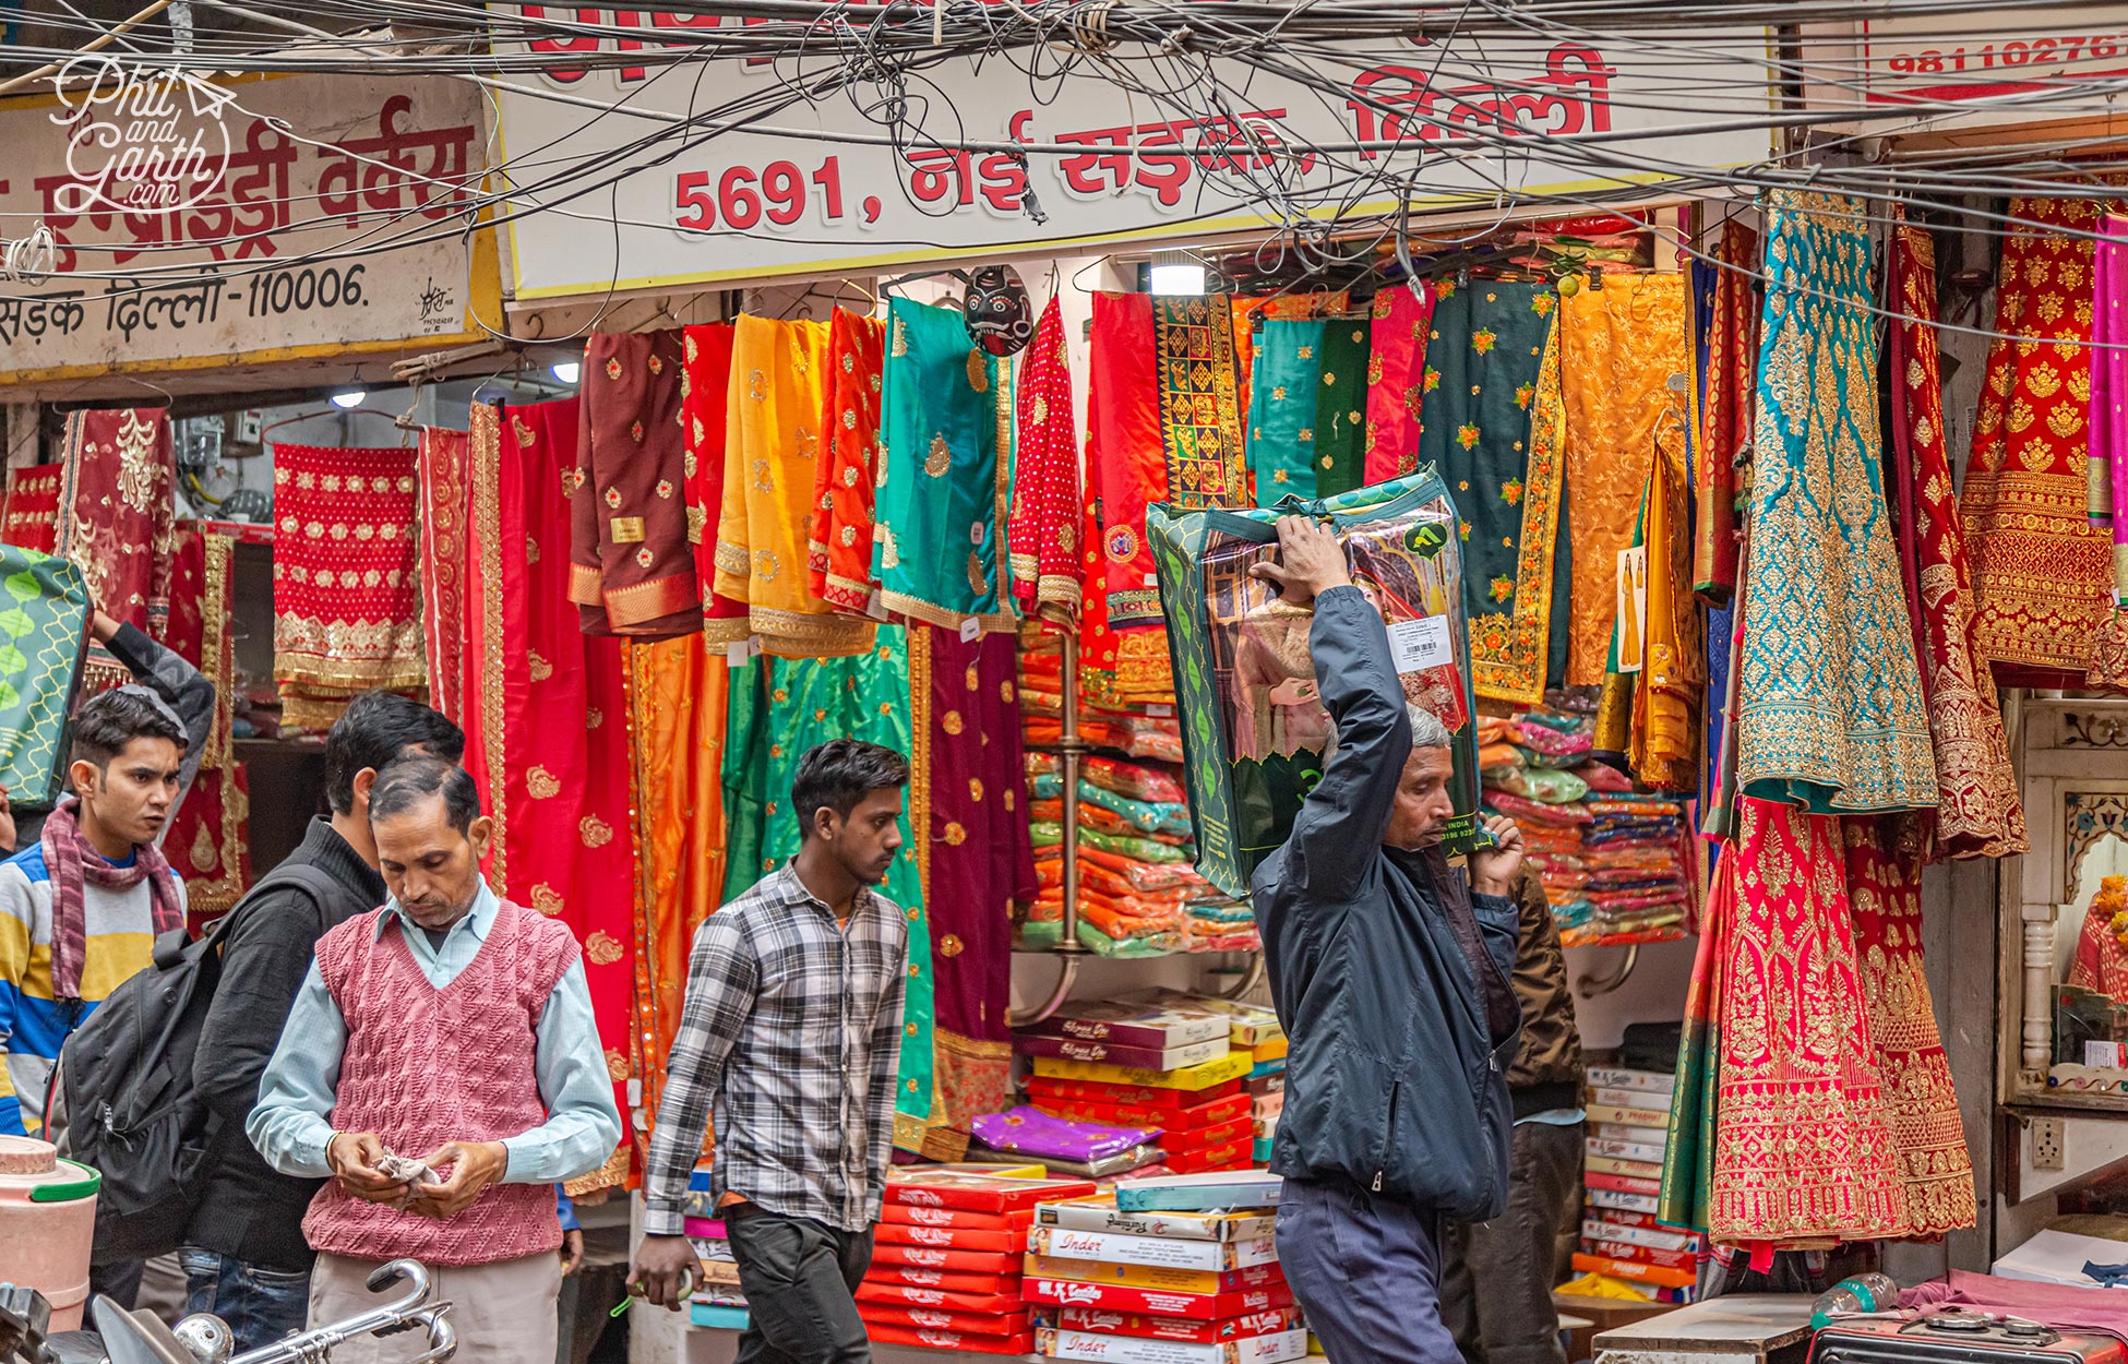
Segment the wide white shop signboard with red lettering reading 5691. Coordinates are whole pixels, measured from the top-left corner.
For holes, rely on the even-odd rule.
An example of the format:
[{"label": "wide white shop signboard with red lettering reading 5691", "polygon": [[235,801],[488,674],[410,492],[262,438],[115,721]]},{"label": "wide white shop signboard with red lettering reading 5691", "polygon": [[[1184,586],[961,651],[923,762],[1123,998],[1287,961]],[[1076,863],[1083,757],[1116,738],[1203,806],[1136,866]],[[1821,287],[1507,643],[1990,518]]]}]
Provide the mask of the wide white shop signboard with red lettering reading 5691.
[{"label": "wide white shop signboard with red lettering reading 5691", "polygon": [[[915,128],[875,121],[892,96],[864,85],[709,136],[679,121],[800,74],[817,83],[830,57],[613,64],[719,19],[523,13],[641,36],[534,40],[543,68],[498,94],[519,300],[1202,238],[1270,228],[1287,209],[1383,213],[1394,198],[1377,177],[1392,168],[1419,170],[1419,213],[1494,211],[1530,192],[1602,202],[1660,192],[1673,166],[1768,153],[1756,28],[1696,32],[1690,51],[1632,34],[1383,38],[1311,49],[1311,81],[1217,60],[1228,104],[1204,117],[1104,77],[1173,79],[1149,51],[1115,47],[1032,89],[1021,64],[947,57],[909,77]],[[585,68],[594,51],[604,64]]]}]

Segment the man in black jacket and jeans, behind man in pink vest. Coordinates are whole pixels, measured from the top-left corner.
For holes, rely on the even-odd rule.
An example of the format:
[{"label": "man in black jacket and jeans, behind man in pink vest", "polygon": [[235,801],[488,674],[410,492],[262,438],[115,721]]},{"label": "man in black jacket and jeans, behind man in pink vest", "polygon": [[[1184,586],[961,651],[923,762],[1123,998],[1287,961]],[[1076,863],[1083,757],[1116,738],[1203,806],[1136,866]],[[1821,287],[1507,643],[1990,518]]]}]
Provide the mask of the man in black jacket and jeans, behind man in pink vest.
[{"label": "man in black jacket and jeans, behind man in pink vest", "polygon": [[[426,753],[458,762],[466,736],[428,706],[370,692],[358,696],[326,736],[330,819],[313,819],[287,864],[323,872],[313,887],[262,885],[234,911],[221,943],[221,983],[200,1030],[194,1083],[217,1119],[217,1168],[185,1228],[179,1260],[185,1311],[211,1311],[236,1332],[236,1349],[270,1345],[302,1330],[311,1304],[313,1251],[302,1213],[319,1179],[281,1175],[245,1138],[260,1077],[281,1041],[317,938],[385,902],[370,838],[370,785],[394,758]],[[283,864],[283,866],[287,866]]]}]

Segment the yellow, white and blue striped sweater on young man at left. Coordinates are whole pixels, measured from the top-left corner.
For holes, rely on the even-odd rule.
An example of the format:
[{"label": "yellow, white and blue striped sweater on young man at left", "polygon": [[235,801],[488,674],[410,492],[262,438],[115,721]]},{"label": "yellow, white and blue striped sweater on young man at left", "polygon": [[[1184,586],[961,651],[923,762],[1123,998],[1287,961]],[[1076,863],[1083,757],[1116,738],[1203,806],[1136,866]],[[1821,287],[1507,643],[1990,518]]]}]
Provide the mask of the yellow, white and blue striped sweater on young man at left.
[{"label": "yellow, white and blue striped sweater on young man at left", "polygon": [[[170,872],[177,875],[174,870]],[[185,881],[177,883],[179,902]],[[43,1128],[45,1089],[60,1047],[117,989],[155,958],[155,911],[143,881],[109,892],[83,887],[87,951],[81,998],[51,998],[51,875],[32,843],[0,862],[0,1134]]]}]

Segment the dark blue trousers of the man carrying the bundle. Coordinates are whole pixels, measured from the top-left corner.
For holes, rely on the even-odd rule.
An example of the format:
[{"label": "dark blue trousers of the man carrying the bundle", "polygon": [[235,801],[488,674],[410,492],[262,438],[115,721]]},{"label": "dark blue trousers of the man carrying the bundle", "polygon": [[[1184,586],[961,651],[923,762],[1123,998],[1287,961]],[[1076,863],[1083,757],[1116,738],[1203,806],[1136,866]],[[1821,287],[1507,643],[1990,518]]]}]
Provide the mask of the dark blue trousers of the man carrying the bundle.
[{"label": "dark blue trousers of the man carrying the bundle", "polygon": [[1462,1364],[1441,1324],[1439,1224],[1343,1179],[1285,1181],[1279,1266],[1330,1364]]}]

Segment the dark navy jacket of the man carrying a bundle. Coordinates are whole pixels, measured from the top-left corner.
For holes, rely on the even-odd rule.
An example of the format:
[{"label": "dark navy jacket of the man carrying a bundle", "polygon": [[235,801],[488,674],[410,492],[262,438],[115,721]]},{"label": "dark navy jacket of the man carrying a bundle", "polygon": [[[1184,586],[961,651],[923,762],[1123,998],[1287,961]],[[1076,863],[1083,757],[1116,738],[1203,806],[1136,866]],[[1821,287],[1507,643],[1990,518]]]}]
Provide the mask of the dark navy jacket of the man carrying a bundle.
[{"label": "dark navy jacket of the man carrying a bundle", "polygon": [[1381,843],[1411,717],[1358,587],[1315,598],[1309,651],[1336,755],[1251,879],[1292,1038],[1270,1168],[1485,1221],[1507,1207],[1515,906],[1439,849]]}]

